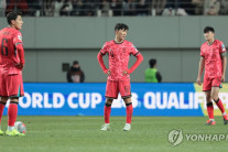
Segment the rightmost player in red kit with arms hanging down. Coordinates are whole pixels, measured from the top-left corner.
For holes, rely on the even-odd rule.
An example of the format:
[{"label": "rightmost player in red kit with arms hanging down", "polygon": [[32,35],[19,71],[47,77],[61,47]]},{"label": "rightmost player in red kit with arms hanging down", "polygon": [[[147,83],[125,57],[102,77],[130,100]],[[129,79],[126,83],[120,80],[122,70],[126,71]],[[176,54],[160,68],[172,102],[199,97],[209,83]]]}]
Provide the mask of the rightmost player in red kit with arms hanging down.
[{"label": "rightmost player in red kit with arms hanging down", "polygon": [[211,100],[214,100],[220,109],[224,117],[224,123],[227,124],[228,117],[225,111],[224,105],[218,97],[221,82],[225,82],[227,66],[226,47],[221,41],[215,40],[214,28],[206,26],[204,29],[204,36],[206,42],[202,44],[200,47],[202,57],[199,61],[197,84],[199,86],[202,85],[200,77],[205,67],[203,91],[205,91],[206,95],[207,112],[209,117],[209,120],[207,120],[205,124],[216,124],[214,119],[214,106]]}]

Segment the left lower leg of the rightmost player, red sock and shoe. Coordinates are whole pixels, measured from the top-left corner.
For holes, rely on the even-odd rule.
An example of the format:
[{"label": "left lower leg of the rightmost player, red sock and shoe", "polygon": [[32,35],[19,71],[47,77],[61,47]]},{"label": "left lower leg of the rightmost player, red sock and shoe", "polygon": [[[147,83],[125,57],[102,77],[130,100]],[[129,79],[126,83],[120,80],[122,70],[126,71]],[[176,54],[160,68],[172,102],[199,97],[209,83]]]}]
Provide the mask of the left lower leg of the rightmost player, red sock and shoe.
[{"label": "left lower leg of the rightmost player, red sock and shoe", "polygon": [[211,94],[210,90],[205,91],[206,101],[207,101],[207,113],[209,117],[209,120],[207,120],[207,122],[205,123],[206,126],[214,126],[215,124],[214,106],[213,106],[210,94]]}]

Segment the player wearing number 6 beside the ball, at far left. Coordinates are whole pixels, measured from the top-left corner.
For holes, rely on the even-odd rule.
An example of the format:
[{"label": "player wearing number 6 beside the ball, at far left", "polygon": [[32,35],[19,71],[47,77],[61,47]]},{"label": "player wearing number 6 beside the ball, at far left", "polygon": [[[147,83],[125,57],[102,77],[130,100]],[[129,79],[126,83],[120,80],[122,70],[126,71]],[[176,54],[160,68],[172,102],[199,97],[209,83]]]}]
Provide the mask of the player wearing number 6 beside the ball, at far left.
[{"label": "player wearing number 6 beside the ball, at far left", "polygon": [[[8,109],[7,135],[24,135],[14,129],[18,116],[19,97],[23,96],[22,69],[24,67],[24,50],[21,30],[23,21],[20,12],[7,14],[9,26],[0,31],[0,122],[7,100]],[[3,131],[0,128],[0,134]]]}]

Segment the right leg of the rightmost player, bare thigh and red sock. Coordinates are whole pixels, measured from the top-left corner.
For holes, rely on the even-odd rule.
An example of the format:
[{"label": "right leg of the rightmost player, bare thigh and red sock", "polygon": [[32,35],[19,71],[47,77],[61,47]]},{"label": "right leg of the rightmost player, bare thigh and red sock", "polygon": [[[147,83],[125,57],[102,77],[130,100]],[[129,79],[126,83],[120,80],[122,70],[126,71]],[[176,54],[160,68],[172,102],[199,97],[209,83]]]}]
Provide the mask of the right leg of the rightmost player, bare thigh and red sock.
[{"label": "right leg of the rightmost player, bare thigh and red sock", "polygon": [[216,102],[216,105],[218,106],[218,108],[221,111],[221,115],[224,117],[224,123],[227,124],[228,123],[228,117],[227,117],[226,110],[224,108],[224,105],[222,105],[221,100],[218,97],[218,93],[219,93],[219,87],[213,87],[210,96],[211,96],[213,100]]}]

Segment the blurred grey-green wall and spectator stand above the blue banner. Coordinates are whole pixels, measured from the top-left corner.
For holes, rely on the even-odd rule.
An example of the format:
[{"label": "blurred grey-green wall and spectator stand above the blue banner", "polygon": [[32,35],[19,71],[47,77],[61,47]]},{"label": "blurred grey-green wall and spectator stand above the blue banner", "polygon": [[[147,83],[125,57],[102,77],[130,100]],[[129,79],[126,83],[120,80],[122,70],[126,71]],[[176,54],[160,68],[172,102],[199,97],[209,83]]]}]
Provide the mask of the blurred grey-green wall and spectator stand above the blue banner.
[{"label": "blurred grey-green wall and spectator stand above the blue banner", "polygon": [[216,39],[228,42],[228,0],[1,0],[0,10],[1,28],[7,12],[23,12],[24,82],[65,83],[74,61],[85,83],[106,82],[97,54],[118,22],[129,25],[127,40],[144,56],[132,82],[144,82],[150,58],[163,83],[195,82],[203,29],[214,26]]}]

